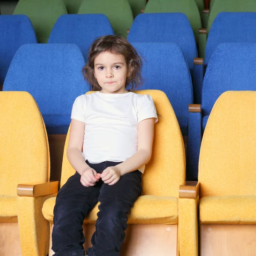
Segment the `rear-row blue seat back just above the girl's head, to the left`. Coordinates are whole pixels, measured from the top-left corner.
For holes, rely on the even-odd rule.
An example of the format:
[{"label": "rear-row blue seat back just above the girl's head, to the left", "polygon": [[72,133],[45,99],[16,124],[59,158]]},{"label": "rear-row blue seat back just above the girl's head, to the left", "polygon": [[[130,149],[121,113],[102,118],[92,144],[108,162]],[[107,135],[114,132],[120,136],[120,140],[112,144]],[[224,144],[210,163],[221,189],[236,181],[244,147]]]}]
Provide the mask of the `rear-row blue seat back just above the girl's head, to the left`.
[{"label": "rear-row blue seat back just above the girl's head, to the left", "polygon": [[107,16],[103,14],[61,15],[49,36],[50,44],[76,44],[87,59],[93,40],[103,35],[114,35]]}]

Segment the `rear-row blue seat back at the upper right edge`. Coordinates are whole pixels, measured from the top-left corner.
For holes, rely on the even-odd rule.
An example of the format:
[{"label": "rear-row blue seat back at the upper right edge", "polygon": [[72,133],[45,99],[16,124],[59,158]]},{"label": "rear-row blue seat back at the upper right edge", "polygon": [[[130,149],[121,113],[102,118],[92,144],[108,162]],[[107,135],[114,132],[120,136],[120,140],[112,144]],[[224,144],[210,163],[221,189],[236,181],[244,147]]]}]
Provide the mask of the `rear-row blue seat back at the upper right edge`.
[{"label": "rear-row blue seat back at the upper right edge", "polygon": [[221,43],[256,43],[255,12],[221,12],[212,23],[205,49],[205,64]]}]

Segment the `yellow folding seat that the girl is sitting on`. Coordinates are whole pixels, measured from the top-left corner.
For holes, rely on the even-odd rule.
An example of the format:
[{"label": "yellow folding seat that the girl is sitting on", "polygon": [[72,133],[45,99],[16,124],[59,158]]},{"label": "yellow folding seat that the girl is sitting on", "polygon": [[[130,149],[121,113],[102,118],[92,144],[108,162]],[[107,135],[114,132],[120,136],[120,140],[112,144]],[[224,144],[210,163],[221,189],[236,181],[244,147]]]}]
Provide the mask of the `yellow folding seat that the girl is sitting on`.
[{"label": "yellow folding seat that the girl is sitting on", "polygon": [[[121,255],[196,256],[198,196],[195,192],[190,198],[185,198],[187,196],[182,192],[186,186],[181,186],[182,198],[179,198],[179,186],[185,181],[185,154],[175,113],[163,92],[141,90],[137,93],[152,96],[159,122],[155,125],[152,157],[143,174],[143,195],[128,215],[128,229]],[[61,186],[75,173],[66,156],[68,138],[69,134],[64,148]],[[163,177],[167,182],[163,182]],[[50,198],[42,209],[51,230],[54,205],[55,198]],[[95,230],[98,205],[84,220],[86,248],[90,246],[90,236]],[[49,256],[52,253],[49,250]]]}]

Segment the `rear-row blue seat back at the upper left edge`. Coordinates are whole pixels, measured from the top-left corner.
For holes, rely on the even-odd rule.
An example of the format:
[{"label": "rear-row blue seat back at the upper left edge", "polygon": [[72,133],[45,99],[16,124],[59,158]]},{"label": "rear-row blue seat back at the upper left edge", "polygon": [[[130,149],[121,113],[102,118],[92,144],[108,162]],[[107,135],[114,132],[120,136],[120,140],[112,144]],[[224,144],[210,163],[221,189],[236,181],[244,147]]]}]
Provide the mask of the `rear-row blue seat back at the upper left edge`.
[{"label": "rear-row blue seat back at the upper left edge", "polygon": [[31,21],[25,15],[0,16],[0,90],[17,49],[23,44],[36,44]]}]

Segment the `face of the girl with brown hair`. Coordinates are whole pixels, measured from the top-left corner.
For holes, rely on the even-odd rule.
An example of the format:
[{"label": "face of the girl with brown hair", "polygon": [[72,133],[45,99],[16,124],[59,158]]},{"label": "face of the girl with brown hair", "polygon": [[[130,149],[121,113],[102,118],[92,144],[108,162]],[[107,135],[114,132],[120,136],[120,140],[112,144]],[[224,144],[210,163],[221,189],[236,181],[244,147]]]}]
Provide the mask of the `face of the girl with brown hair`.
[{"label": "face of the girl with brown hair", "polygon": [[126,93],[128,76],[125,57],[122,54],[101,52],[94,59],[94,76],[102,87],[102,93]]}]

